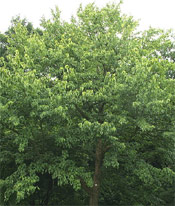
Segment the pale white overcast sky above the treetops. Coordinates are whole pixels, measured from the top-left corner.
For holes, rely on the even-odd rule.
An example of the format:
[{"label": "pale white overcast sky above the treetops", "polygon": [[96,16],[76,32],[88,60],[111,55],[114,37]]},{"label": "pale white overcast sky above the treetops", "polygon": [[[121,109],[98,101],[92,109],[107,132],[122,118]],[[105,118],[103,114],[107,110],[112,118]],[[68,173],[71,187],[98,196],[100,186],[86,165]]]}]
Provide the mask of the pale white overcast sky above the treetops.
[{"label": "pale white overcast sky above the treetops", "polygon": [[[95,2],[102,7],[106,3],[119,0],[1,0],[0,32],[10,25],[10,20],[16,15],[27,18],[34,26],[39,26],[42,16],[50,17],[50,10],[57,5],[62,11],[62,19],[68,20],[76,14],[80,3],[86,5]],[[123,0],[122,12],[140,19],[140,29],[149,26],[175,30],[175,0]]]}]

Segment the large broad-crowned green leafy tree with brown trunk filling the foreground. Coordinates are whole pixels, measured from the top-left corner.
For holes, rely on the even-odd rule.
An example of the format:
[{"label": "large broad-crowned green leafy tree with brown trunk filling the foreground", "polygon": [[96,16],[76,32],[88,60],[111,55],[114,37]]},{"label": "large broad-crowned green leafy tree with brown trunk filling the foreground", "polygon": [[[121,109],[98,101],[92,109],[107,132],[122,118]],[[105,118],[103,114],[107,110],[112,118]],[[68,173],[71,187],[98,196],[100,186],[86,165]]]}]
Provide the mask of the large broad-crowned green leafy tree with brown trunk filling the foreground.
[{"label": "large broad-crowned green leafy tree with brown trunk filling the foreground", "polygon": [[18,23],[1,59],[2,199],[19,203],[49,175],[84,189],[89,205],[107,197],[106,187],[125,204],[124,184],[140,186],[143,198],[127,191],[133,205],[166,204],[160,191],[175,177],[174,62],[155,56],[165,44],[139,37],[119,5],[80,6],[71,23],[52,13],[42,35]]}]

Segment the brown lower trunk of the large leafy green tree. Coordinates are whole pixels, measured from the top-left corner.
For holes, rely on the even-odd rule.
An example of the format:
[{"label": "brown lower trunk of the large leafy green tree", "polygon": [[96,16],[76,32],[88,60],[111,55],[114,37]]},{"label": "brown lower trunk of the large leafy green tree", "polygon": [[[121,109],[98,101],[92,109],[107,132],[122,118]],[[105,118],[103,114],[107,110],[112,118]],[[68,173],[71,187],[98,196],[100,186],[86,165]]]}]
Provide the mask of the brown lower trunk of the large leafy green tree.
[{"label": "brown lower trunk of the large leafy green tree", "polygon": [[89,206],[98,206],[102,159],[103,159],[102,140],[99,139],[96,146],[94,184],[90,193]]}]

